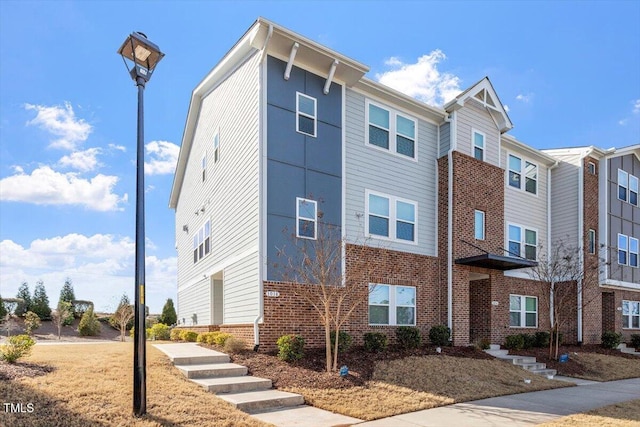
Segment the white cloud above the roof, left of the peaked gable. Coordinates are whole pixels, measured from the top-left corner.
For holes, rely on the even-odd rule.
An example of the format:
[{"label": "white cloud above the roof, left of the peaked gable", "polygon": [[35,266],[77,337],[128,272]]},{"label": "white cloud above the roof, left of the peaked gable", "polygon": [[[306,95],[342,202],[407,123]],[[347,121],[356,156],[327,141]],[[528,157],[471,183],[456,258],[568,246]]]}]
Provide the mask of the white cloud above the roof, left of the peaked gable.
[{"label": "white cloud above the roof, left of the peaked gable", "polygon": [[438,70],[444,59],[446,55],[441,50],[422,55],[414,64],[391,57],[385,64],[392,69],[376,74],[376,79],[429,105],[443,105],[461,92],[459,77]]}]

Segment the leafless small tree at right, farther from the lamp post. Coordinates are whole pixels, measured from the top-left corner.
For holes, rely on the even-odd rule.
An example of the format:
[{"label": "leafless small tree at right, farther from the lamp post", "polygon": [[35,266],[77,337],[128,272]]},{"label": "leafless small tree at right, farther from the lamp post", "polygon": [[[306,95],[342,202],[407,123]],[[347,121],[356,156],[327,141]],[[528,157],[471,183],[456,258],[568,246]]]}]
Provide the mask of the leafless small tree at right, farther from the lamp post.
[{"label": "leafless small tree at right, farther from the lamp post", "polygon": [[[542,306],[549,309],[549,358],[558,359],[560,329],[575,318],[578,309],[595,301],[599,293],[585,293],[597,289],[599,272],[604,261],[597,256],[585,256],[582,248],[557,241],[552,248],[541,248],[540,261],[529,270],[538,281]],[[581,301],[578,307],[578,301]]]}]

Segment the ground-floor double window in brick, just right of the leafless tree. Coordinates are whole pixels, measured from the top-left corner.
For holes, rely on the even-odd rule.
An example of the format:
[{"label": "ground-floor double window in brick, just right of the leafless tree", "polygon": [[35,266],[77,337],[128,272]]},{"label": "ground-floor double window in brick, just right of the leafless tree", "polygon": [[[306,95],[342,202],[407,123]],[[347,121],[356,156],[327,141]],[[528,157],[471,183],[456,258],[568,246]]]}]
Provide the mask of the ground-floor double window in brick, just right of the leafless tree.
[{"label": "ground-floor double window in brick, just right of the leafless tree", "polygon": [[416,288],[370,283],[369,324],[415,326]]}]

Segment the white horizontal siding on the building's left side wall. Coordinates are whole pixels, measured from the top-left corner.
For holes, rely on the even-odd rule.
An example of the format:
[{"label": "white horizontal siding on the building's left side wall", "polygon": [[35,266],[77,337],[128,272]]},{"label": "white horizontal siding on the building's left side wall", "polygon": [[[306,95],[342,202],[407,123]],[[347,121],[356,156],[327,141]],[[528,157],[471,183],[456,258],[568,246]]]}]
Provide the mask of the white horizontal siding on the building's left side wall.
[{"label": "white horizontal siding on the building's left side wall", "polygon": [[[199,292],[199,288],[191,288],[197,287],[203,276],[234,268],[233,264],[239,259],[257,254],[258,251],[258,62],[259,55],[254,53],[201,101],[184,184],[176,207],[178,293],[185,296],[184,304],[188,303],[194,292]],[[213,137],[218,130],[220,158],[214,164]],[[205,154],[207,176],[203,182],[201,160]],[[211,221],[211,252],[194,264],[193,236],[207,219]],[[185,225],[188,233],[183,231]],[[243,280],[224,284],[225,294],[242,294],[246,297],[244,300],[227,301],[230,305],[225,310],[244,313],[242,318],[235,318],[237,322],[251,322],[258,314],[258,263],[255,262],[251,268],[253,274],[242,276]],[[207,293],[198,297],[203,302],[198,307],[204,310],[197,313],[199,324],[203,324],[203,319],[211,320],[209,296]],[[179,300],[178,310],[181,313],[192,310],[189,306],[184,309],[180,307],[183,301]]]}]

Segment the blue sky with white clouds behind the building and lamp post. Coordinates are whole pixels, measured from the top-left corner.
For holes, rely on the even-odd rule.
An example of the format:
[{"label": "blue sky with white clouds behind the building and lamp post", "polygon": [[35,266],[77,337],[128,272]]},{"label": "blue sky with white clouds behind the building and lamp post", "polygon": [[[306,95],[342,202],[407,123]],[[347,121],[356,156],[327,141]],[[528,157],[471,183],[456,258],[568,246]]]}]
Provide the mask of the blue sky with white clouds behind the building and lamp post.
[{"label": "blue sky with white clouds behind the building and lamp post", "polygon": [[136,88],[116,54],[166,57],[145,91],[147,304],[176,297],[173,170],[193,88],[258,16],[441,105],[489,76],[536,148],[640,142],[640,2],[0,2],[0,295],[133,296]]}]

